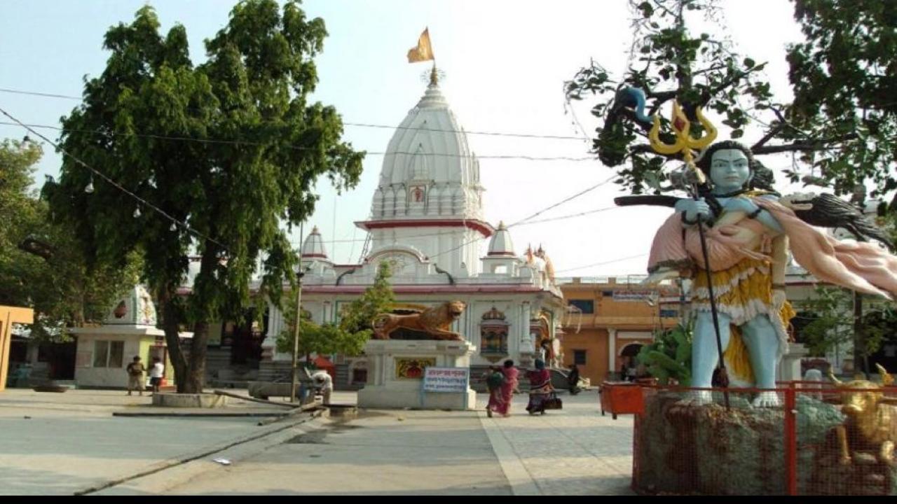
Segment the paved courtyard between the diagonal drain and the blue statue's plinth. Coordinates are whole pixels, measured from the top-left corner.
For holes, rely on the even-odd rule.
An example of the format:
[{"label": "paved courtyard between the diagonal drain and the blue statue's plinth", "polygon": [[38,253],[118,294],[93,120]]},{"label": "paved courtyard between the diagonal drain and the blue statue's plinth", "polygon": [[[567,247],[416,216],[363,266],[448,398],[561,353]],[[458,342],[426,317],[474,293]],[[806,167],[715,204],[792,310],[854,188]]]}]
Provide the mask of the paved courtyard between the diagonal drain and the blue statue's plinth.
[{"label": "paved courtyard between the diagonal drain and the blue statue's plinth", "polygon": [[374,412],[266,448],[169,487],[177,494],[631,494],[631,417],[598,413],[597,393],[529,416]]}]

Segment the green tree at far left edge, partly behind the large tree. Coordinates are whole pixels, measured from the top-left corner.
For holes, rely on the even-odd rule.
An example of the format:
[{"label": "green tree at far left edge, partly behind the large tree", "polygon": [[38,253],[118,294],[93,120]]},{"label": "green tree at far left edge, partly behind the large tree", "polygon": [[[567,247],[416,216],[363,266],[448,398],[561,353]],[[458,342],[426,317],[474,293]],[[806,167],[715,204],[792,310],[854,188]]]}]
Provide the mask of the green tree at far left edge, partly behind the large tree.
[{"label": "green tree at far left edge, partly behind the large tree", "polygon": [[35,310],[31,337],[69,339],[68,328],[100,322],[138,280],[139,255],[123,267],[90,264],[71,230],[49,222],[30,190],[39,144],[0,142],[0,304]]}]

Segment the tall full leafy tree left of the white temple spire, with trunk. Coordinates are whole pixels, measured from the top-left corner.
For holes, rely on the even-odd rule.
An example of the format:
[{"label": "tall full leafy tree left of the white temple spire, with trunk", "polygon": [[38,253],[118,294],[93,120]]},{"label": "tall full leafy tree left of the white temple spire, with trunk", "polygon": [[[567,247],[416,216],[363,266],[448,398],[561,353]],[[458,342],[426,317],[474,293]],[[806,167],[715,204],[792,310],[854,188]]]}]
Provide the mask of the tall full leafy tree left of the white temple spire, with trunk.
[{"label": "tall full leafy tree left of the white temple spire, with trunk", "polygon": [[[210,321],[239,317],[259,263],[259,296],[279,303],[296,265],[284,225],[313,213],[318,178],[357,184],[363,153],[341,140],[334,108],[309,101],[327,31],[297,2],[240,2],[200,65],[183,26],[159,28],[145,6],[106,33],[106,68],[63,119],[70,155],[51,199],[98,262],[145,251],[179,391],[198,392]],[[182,295],[191,256],[199,271]],[[188,358],[181,325],[193,328]]]}]

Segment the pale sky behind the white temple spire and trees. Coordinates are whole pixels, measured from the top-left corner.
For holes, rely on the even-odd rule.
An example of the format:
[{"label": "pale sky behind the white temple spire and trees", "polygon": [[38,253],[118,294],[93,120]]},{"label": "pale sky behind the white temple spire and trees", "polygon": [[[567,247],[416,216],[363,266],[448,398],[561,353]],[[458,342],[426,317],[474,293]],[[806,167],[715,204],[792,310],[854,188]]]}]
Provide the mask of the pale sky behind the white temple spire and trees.
[{"label": "pale sky behind the white temple spire and trees", "polygon": [[[163,32],[175,22],[186,26],[195,62],[205,59],[202,40],[222,28],[234,4],[224,0],[3,0],[0,88],[80,96],[83,77],[100,74],[109,56],[101,49],[103,34],[113,24],[131,22],[146,3],[155,6]],[[736,50],[758,62],[767,61],[772,91],[779,100],[788,100],[785,45],[801,39],[793,21],[793,4],[786,0],[722,4]],[[550,4],[307,0],[303,8],[309,16],[324,18],[330,34],[317,58],[320,82],[314,98],[334,105],[346,123],[397,126],[402,121],[422,96],[421,75],[430,68],[429,63],[409,65],[405,54],[423,28],[429,27],[437,65],[447,74],[442,91],[466,131],[582,136],[573,118],[565,114],[563,82],[590,59],[604,65],[613,78],[622,76],[631,45],[631,13],[625,0],[555,0]],[[588,114],[594,103],[585,100],[575,109],[589,136],[597,126]],[[58,126],[59,117],[76,104],[75,100],[0,91],[0,107],[30,124]],[[58,137],[56,131],[39,131],[54,140]],[[22,138],[25,133],[19,126],[0,125],[0,138]],[[392,134],[393,130],[384,128],[346,126],[344,139],[358,149],[383,152]],[[745,141],[758,137],[749,132]],[[719,138],[727,138],[724,127]],[[467,140],[481,157],[485,214],[493,225],[500,220],[517,222],[613,175],[597,160],[488,158],[583,158],[589,157],[590,141],[494,135],[468,135]],[[45,152],[39,184],[43,175],[57,175],[60,163],[51,147]],[[790,164],[789,159],[764,162],[773,169]],[[368,155],[361,183],[341,196],[335,195],[326,179],[318,183],[321,200],[306,232],[311,224],[318,225],[327,253],[336,263],[359,260],[365,237],[353,222],[370,213],[381,163],[382,156]],[[609,183],[539,219],[611,207],[614,196],[621,194],[619,187]],[[615,208],[521,225],[511,230],[511,237],[518,253],[527,243],[542,244],[559,276],[643,274],[654,230],[668,213],[662,208]],[[484,253],[485,241],[482,247]]]}]

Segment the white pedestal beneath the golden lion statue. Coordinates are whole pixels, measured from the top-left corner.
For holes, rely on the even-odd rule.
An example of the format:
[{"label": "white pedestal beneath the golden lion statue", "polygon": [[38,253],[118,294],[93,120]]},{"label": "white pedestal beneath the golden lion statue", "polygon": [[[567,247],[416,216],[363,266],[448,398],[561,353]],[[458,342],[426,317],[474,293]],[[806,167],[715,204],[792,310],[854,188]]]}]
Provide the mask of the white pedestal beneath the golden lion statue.
[{"label": "white pedestal beneath the golden lion statue", "polygon": [[423,369],[470,369],[476,347],[455,340],[378,340],[364,346],[368,383],[358,391],[361,408],[421,408],[472,410],[476,393],[469,383],[464,392],[424,392]]}]

